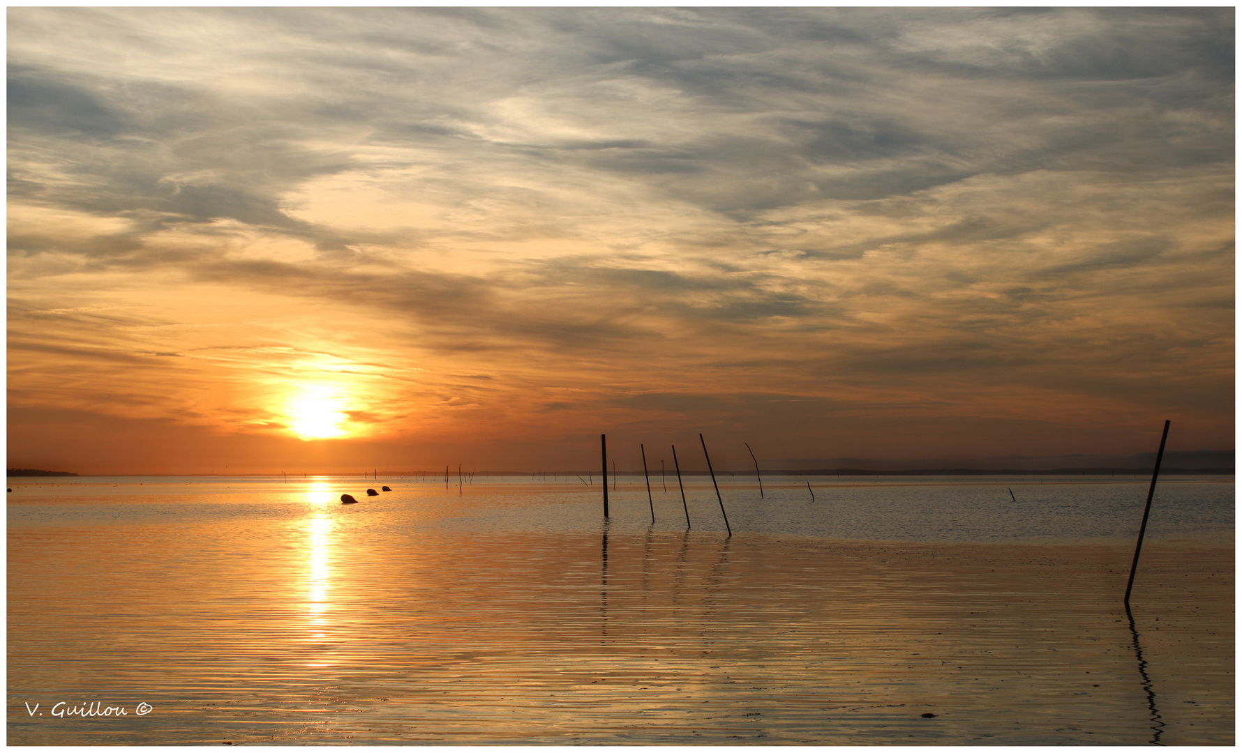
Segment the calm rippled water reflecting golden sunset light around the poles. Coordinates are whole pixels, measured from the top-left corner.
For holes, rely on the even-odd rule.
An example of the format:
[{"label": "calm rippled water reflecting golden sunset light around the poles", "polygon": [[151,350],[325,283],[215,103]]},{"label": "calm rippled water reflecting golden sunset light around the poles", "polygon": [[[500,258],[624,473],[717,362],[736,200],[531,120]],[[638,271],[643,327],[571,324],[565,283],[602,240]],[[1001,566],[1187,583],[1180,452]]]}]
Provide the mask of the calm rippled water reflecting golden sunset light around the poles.
[{"label": "calm rippled water reflecting golden sunset light around the poles", "polygon": [[1233,741],[1232,478],[452,481],[10,479],[9,742]]}]

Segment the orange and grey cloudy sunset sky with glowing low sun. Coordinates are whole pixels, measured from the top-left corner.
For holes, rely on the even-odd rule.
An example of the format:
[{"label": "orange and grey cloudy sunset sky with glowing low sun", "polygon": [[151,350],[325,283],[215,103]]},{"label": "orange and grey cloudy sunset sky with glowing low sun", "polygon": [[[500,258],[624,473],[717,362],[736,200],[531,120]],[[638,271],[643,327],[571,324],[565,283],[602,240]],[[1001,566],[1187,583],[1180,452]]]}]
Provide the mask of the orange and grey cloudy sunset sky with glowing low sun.
[{"label": "orange and grey cloudy sunset sky with glowing low sun", "polygon": [[1233,15],[10,7],[9,466],[1231,450]]}]

